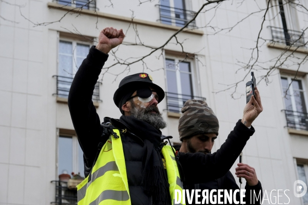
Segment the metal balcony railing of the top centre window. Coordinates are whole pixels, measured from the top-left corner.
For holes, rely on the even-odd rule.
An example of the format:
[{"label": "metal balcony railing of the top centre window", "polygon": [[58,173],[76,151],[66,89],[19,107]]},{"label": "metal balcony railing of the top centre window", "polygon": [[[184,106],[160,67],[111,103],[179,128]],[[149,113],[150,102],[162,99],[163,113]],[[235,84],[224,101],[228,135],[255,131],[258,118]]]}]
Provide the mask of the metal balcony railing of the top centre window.
[{"label": "metal balcony railing of the top centre window", "polygon": [[[159,19],[162,24],[183,27],[189,20],[191,20],[196,12],[185,9],[173,8],[157,4],[159,7]],[[196,21],[193,20],[187,28],[196,28]]]}]

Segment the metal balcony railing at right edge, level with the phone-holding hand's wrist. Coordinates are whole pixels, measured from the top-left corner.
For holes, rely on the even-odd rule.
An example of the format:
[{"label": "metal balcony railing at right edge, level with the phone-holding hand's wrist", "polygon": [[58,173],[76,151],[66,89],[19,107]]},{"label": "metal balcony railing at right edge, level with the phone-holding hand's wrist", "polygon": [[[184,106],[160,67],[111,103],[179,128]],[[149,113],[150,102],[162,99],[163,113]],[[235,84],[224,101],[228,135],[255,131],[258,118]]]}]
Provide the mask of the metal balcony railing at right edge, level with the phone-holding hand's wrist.
[{"label": "metal balcony railing at right edge, level with the phone-holding hand's wrist", "polygon": [[286,127],[308,131],[308,113],[282,110],[285,113]]}]

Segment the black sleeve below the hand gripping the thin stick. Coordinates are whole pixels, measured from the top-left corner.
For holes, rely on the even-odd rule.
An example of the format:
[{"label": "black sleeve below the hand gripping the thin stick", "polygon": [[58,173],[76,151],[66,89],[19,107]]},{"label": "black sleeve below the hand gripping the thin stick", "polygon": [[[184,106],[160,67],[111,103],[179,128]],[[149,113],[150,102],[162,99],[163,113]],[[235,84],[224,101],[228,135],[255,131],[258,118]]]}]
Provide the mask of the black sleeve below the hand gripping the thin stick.
[{"label": "black sleeve below the hand gripping the thin stick", "polygon": [[263,190],[262,190],[262,185],[261,182],[258,181],[258,184],[255,186],[245,186],[245,199],[246,204],[261,204],[262,198],[263,198]]}]

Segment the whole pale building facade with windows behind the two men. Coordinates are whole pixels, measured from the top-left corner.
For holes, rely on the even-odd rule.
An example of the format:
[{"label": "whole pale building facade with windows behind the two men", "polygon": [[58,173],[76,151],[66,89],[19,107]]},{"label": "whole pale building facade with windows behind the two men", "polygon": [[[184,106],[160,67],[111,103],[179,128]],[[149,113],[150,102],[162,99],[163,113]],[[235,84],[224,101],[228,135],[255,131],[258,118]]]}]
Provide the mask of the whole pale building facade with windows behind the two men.
[{"label": "whole pale building facade with windows behind the two men", "polygon": [[[302,8],[271,0],[262,24],[264,10],[257,11],[266,8],[266,0],[208,5],[206,12],[177,35],[178,42],[172,38],[163,49],[125,65],[163,45],[205,3],[0,1],[0,205],[75,203],[76,191],[68,189],[67,182],[59,182],[61,174],[83,176],[83,153],[70,119],[67,95],[100,30],[122,28],[126,34],[123,45],[109,53],[104,68],[115,62],[122,65],[103,69],[94,89],[93,104],[101,121],[105,116],[121,116],[112,99],[120,80],[145,72],[166,91],[158,106],[168,124],[163,134],[174,136],[171,141],[179,143],[183,104],[190,98],[203,99],[219,119],[216,151],[242,117],[246,102],[242,95],[250,78],[245,78],[248,70],[240,68],[252,57],[250,48],[256,46],[261,25],[262,38],[269,40],[259,44],[258,60],[265,69],[256,68],[257,81],[267,68],[276,66],[277,61],[269,59],[279,56],[286,46],[286,54],[293,57],[286,60],[289,64],[273,70],[266,80],[268,85],[265,80],[258,85],[264,111],[253,124],[256,133],[243,150],[243,162],[256,169],[268,195],[264,204],[275,203],[278,195],[283,195],[279,203],[308,204],[308,194],[301,198],[293,194],[296,180],[308,182],[308,65],[302,63],[298,71],[294,66],[308,53],[307,39],[302,35],[308,15]],[[307,2],[301,4],[308,7]],[[139,45],[131,45],[136,43]],[[237,90],[225,90],[241,79]],[[232,94],[239,99],[233,99]],[[236,163],[233,174],[235,167]]]}]

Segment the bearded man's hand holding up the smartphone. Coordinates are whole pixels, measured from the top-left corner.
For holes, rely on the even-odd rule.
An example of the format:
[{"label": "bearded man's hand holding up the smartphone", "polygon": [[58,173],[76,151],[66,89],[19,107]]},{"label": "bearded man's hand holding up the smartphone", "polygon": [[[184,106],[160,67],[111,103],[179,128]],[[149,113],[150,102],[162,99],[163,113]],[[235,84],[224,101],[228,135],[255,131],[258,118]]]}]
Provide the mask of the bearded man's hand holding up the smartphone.
[{"label": "bearded man's hand holding up the smartphone", "polygon": [[263,111],[260,93],[259,93],[257,87],[255,88],[255,94],[256,94],[257,99],[255,99],[255,97],[253,95],[252,98],[249,100],[249,102],[247,103],[247,105],[244,108],[244,114],[243,114],[242,122],[247,127],[251,126],[253,121]]}]

